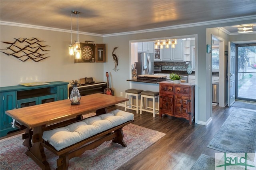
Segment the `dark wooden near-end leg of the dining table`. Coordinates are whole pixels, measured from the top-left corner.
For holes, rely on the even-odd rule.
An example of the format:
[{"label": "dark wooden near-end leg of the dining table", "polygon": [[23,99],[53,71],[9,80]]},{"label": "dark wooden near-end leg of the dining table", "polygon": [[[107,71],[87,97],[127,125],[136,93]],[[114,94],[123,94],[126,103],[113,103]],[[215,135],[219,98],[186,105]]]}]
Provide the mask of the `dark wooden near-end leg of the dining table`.
[{"label": "dark wooden near-end leg of the dining table", "polygon": [[26,151],[26,155],[36,162],[43,170],[50,170],[50,165],[46,161],[46,156],[44,154],[44,146],[42,146],[42,131],[43,127],[35,127],[33,131],[32,141],[33,145]]}]

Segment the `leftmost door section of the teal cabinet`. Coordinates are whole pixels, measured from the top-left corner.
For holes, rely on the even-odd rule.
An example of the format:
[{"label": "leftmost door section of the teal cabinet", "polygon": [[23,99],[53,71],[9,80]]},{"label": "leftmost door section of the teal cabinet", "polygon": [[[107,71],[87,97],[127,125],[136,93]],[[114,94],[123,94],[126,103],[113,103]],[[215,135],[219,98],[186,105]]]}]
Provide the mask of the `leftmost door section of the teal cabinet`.
[{"label": "leftmost door section of the teal cabinet", "polygon": [[12,127],[12,118],[7,116],[4,112],[7,110],[16,109],[16,91],[1,92],[1,105],[0,105],[0,136],[6,136],[11,130],[17,128]]}]

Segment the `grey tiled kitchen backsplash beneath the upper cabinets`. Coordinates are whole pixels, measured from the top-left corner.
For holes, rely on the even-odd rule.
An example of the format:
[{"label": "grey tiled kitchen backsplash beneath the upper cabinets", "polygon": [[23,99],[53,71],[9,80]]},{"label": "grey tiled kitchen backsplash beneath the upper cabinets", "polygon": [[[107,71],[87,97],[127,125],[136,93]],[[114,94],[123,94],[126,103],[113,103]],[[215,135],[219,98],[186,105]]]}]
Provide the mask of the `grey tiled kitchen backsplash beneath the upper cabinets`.
[{"label": "grey tiled kitchen backsplash beneath the upper cabinets", "polygon": [[[189,62],[191,65],[191,62]],[[177,71],[187,71],[188,65],[184,61],[180,62],[164,62],[164,61],[154,61],[154,65],[162,65],[162,70],[177,70]]]}]

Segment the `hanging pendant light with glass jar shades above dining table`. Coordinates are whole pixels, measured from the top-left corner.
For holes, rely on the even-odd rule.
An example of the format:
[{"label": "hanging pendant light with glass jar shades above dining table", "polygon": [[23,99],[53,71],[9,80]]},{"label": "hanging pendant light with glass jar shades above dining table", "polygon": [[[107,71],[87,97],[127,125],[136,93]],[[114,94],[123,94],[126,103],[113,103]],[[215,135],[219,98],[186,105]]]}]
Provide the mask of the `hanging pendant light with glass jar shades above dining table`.
[{"label": "hanging pendant light with glass jar shades above dining table", "polygon": [[[79,42],[79,25],[78,25],[78,17],[79,17],[79,13],[78,11],[71,11],[71,16],[70,16],[70,20],[71,20],[71,43],[68,45],[68,55],[70,56],[74,56],[76,59],[81,59],[82,58],[82,51],[80,48],[80,42]],[[72,14],[76,15],[76,41],[74,42],[74,44],[72,44]]]}]

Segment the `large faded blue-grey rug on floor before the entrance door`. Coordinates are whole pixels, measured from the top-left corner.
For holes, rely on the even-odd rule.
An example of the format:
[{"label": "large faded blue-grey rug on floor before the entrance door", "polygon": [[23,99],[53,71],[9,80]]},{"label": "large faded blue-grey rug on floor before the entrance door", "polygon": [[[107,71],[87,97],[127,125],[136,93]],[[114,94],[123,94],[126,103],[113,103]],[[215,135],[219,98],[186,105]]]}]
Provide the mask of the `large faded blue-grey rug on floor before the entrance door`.
[{"label": "large faded blue-grey rug on floor before the entrance door", "polygon": [[226,153],[255,153],[256,111],[234,108],[207,147]]}]

